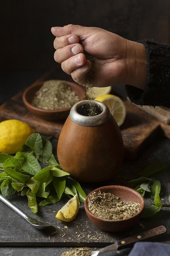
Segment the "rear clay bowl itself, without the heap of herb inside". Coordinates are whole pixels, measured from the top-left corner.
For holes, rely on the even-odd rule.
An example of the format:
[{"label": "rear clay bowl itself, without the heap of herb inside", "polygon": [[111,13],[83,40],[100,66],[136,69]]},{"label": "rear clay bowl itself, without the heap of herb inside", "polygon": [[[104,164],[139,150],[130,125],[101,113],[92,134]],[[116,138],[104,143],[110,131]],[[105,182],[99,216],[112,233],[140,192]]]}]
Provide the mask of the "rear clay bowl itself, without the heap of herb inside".
[{"label": "rear clay bowl itself, without the heap of herb inside", "polygon": [[[31,105],[31,102],[35,96],[35,93],[41,88],[45,81],[37,82],[31,86],[29,86],[25,91],[23,92],[23,103],[25,104],[26,108],[33,113],[34,115],[43,118],[45,120],[63,120],[66,119],[67,116],[70,113],[70,108],[63,108],[63,109],[57,109],[57,110],[46,110],[42,108],[37,108],[33,105]],[[68,84],[72,91],[75,92],[75,94],[78,96],[79,100],[84,100],[84,86],[80,86],[79,84],[76,84],[74,82],[64,81],[66,84]]]}]

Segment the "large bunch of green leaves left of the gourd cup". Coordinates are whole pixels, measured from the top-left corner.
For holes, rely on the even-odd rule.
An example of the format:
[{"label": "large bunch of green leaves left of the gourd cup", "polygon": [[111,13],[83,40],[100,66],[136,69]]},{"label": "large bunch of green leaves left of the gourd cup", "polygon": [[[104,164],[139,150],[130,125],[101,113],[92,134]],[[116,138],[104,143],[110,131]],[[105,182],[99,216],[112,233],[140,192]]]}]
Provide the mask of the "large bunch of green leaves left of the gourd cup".
[{"label": "large bunch of green leaves left of the gourd cup", "polygon": [[[54,204],[66,195],[78,194],[80,202],[86,198],[80,184],[61,170],[52,153],[52,144],[39,133],[31,134],[24,150],[15,156],[0,153],[0,190],[3,196],[17,192],[27,196],[28,205],[36,213],[38,206]],[[45,165],[44,168],[41,168]],[[37,203],[38,198],[40,202]]]}]

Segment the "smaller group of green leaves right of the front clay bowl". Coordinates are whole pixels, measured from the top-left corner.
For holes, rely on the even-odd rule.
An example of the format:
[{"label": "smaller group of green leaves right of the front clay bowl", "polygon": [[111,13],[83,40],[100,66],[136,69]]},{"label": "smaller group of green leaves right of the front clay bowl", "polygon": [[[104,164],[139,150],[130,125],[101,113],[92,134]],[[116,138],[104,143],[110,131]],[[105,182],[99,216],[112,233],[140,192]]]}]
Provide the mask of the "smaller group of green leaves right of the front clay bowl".
[{"label": "smaller group of green leaves right of the front clay bowl", "polygon": [[165,163],[152,163],[142,171],[140,178],[129,181],[130,184],[135,186],[135,190],[137,190],[143,197],[149,196],[154,199],[154,203],[144,209],[142,218],[149,218],[155,215],[162,207],[170,207],[170,204],[163,204],[160,200],[160,181],[152,178],[164,174],[165,172],[168,172],[168,170],[170,170],[170,168]]}]

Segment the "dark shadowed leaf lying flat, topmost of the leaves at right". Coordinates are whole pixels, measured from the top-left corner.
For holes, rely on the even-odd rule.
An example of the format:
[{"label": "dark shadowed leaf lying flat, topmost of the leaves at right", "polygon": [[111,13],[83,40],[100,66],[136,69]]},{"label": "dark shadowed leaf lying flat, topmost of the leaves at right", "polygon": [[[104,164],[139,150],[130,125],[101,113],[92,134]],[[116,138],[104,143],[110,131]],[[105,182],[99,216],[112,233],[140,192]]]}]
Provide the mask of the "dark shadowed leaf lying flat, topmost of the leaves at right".
[{"label": "dark shadowed leaf lying flat, topmost of the leaves at right", "polygon": [[170,167],[168,164],[162,163],[162,162],[156,162],[149,164],[142,172],[142,176],[150,177],[150,176],[156,176],[165,172],[168,172],[170,170]]}]

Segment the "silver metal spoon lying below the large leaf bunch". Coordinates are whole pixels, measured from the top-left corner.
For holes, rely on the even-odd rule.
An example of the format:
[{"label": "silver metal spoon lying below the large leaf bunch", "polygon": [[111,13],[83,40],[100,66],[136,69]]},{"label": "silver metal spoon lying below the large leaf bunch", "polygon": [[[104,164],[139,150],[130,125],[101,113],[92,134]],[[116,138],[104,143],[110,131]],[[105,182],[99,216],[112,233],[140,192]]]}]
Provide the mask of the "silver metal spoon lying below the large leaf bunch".
[{"label": "silver metal spoon lying below the large leaf bunch", "polygon": [[44,229],[44,228],[47,228],[47,227],[51,226],[51,224],[48,223],[48,222],[43,222],[41,220],[36,220],[36,219],[30,217],[29,215],[25,214],[17,206],[12,204],[12,202],[10,202],[6,198],[4,198],[4,196],[2,196],[1,194],[0,194],[0,201],[2,201],[4,204],[9,206],[12,210],[14,210],[14,212],[18,213],[24,220],[26,220],[34,228]]}]

